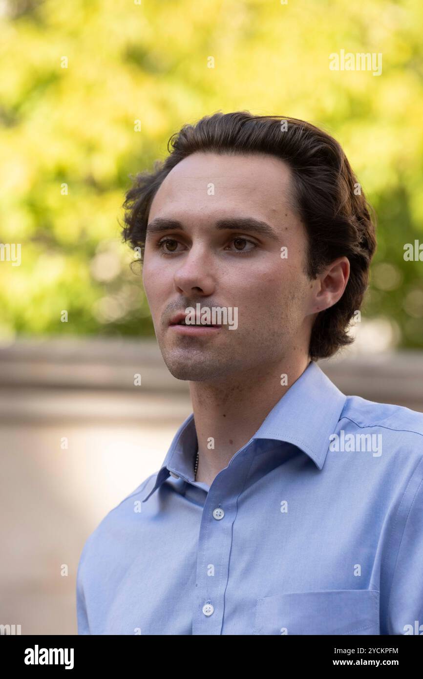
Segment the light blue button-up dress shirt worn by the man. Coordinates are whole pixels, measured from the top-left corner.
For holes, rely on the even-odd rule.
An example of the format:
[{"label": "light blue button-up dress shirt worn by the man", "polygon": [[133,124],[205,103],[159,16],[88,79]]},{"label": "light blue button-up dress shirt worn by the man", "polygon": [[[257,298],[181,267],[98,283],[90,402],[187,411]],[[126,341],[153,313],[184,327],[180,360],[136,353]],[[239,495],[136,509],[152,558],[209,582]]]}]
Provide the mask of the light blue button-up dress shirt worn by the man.
[{"label": "light blue button-up dress shirt worn by the man", "polygon": [[78,634],[423,634],[423,414],[312,362],[210,487],[196,452],[191,414],[89,536]]}]

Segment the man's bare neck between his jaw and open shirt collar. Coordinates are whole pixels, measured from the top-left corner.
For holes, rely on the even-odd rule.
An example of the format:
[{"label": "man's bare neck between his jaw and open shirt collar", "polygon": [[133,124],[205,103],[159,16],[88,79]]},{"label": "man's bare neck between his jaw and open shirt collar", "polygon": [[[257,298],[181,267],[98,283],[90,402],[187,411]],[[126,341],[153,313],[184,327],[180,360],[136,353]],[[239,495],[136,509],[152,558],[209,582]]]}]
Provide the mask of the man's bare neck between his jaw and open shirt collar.
[{"label": "man's bare neck between his jaw and open shirt collar", "polygon": [[[211,485],[309,363],[308,356],[299,356],[289,365],[260,365],[219,382],[189,382],[199,451],[197,481]],[[280,384],[282,374],[288,376],[286,386]]]}]

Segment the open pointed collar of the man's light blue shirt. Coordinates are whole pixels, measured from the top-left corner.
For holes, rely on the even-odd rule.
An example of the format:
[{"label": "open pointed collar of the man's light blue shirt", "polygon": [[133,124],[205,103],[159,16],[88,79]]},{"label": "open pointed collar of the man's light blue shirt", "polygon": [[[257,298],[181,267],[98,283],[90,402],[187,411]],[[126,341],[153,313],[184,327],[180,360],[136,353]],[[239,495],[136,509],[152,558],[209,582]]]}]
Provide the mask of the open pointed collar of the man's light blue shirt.
[{"label": "open pointed collar of the man's light blue shirt", "polygon": [[[311,361],[304,373],[274,405],[254,439],[274,439],[292,443],[323,468],[329,449],[329,436],[335,432],[346,396],[329,380],[317,363]],[[169,477],[170,472],[194,482],[193,460],[197,450],[194,414],[191,413],[174,435],[158,472],[155,485],[143,502]]]}]

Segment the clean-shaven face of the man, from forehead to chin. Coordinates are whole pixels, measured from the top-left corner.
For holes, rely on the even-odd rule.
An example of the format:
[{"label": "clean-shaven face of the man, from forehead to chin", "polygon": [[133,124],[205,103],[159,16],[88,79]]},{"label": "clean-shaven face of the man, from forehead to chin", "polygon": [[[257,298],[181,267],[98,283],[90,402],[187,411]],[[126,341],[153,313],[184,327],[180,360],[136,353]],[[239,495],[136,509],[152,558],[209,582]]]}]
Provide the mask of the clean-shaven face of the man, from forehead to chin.
[{"label": "clean-shaven face of the man, from forehead to chin", "polygon": [[[159,219],[180,226],[161,232],[147,227],[143,283],[174,377],[211,382],[246,371],[259,376],[295,352],[307,354],[313,320],[304,272],[307,239],[289,208],[290,178],[289,167],[272,155],[194,153],[158,189],[149,226]],[[245,218],[265,223],[269,232],[222,223]],[[232,325],[236,308],[238,327],[170,325],[175,314],[196,304],[232,309]]]}]

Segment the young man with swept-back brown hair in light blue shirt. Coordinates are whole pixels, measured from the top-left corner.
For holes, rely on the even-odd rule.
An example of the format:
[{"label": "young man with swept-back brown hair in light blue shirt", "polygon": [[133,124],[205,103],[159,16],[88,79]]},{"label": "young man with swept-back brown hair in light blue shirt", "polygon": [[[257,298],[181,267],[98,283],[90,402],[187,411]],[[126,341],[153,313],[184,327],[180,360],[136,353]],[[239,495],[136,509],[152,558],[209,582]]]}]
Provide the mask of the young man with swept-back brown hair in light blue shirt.
[{"label": "young man with swept-back brown hair in light blue shirt", "polygon": [[79,634],[418,634],[423,415],[316,364],[352,341],[375,251],[339,144],[216,113],[124,206],[193,414],[88,538]]}]

